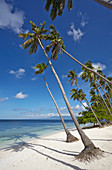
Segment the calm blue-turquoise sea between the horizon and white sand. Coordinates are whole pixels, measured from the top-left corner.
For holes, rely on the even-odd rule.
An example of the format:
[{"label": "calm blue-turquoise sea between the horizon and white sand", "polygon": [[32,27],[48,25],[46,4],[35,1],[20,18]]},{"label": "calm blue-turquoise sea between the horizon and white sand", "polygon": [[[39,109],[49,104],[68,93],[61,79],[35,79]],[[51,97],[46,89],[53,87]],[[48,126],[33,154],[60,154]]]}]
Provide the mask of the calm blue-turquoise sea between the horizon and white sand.
[{"label": "calm blue-turquoise sea between the horizon and white sand", "polygon": [[[65,120],[68,129],[75,128]],[[0,120],[0,149],[28,142],[63,130],[61,120]]]}]

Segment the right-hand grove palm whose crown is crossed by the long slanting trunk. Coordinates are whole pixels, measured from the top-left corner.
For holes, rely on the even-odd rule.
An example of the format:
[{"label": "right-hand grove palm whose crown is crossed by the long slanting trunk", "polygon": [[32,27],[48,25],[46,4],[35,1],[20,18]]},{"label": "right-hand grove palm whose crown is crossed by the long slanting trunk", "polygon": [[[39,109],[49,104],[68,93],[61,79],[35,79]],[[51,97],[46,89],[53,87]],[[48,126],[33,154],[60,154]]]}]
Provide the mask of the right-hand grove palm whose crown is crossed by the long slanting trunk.
[{"label": "right-hand grove palm whose crown is crossed by the long slanting trunk", "polygon": [[[94,67],[92,66],[91,61],[86,62],[85,65],[86,65],[87,67],[91,68],[91,69],[94,68]],[[98,88],[98,86],[97,86],[97,84],[96,84],[96,82],[95,82],[95,81],[97,81],[96,74],[94,74],[94,73],[92,73],[92,72],[89,72],[89,71],[88,71],[87,69],[85,69],[84,67],[82,67],[82,70],[83,70],[83,73],[81,74],[82,79],[85,80],[85,82],[87,82],[87,81],[89,80],[89,82],[90,82],[90,84],[91,84],[90,86],[93,87],[94,89],[96,89],[96,91],[100,94],[100,96],[101,96],[104,104],[106,105],[106,107],[107,107],[110,115],[112,116],[111,111],[110,111],[110,109],[109,109],[106,101],[104,100],[104,98],[103,98],[103,96],[102,96],[102,94],[101,94],[101,92],[100,92],[100,90],[99,90],[99,88]]]}]

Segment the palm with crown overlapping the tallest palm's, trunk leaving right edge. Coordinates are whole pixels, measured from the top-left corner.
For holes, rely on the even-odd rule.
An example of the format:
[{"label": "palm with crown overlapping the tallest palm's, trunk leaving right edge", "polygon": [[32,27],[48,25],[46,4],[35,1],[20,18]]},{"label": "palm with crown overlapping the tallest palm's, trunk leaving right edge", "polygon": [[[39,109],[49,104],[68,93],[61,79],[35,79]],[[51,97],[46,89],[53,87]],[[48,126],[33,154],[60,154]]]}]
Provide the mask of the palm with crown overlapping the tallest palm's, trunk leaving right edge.
[{"label": "palm with crown overlapping the tallest palm's, trunk leaving right edge", "polygon": [[103,77],[101,74],[98,72],[95,72],[94,69],[91,69],[87,67],[86,65],[82,64],[80,61],[78,61],[76,58],[74,58],[72,55],[70,55],[67,51],[65,51],[65,46],[62,40],[62,37],[59,36],[58,31],[56,30],[56,27],[54,25],[50,25],[50,34],[48,37],[46,37],[46,40],[50,41],[50,44],[46,46],[46,51],[48,52],[50,49],[52,52],[52,57],[51,59],[54,59],[55,61],[57,60],[58,53],[59,55],[61,54],[61,50],[66,53],[70,58],[72,58],[75,62],[80,64],[83,68],[87,69],[89,72],[94,73],[95,75],[98,75],[101,77],[103,80],[108,82],[110,85],[112,85],[112,82],[109,81],[107,78]]}]

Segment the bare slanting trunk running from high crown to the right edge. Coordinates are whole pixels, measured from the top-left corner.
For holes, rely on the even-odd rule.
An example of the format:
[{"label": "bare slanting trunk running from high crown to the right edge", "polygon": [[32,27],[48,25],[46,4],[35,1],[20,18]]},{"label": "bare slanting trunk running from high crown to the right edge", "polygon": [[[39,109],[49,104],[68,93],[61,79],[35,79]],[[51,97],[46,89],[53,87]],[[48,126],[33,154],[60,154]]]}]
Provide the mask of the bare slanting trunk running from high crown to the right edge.
[{"label": "bare slanting trunk running from high crown to the right edge", "polygon": [[105,80],[106,82],[108,82],[110,85],[112,85],[112,82],[109,81],[107,78],[103,77],[101,74],[97,73],[96,71],[92,70],[91,68],[86,67],[85,65],[83,65],[80,61],[78,61],[76,58],[74,58],[72,55],[70,55],[67,51],[65,51],[62,47],[61,47],[62,51],[64,53],[66,53],[69,57],[71,57],[74,61],[76,61],[78,64],[80,64],[82,67],[86,68],[87,70],[89,70],[90,72],[95,73],[96,75],[98,75],[99,77],[101,77],[103,80]]}]

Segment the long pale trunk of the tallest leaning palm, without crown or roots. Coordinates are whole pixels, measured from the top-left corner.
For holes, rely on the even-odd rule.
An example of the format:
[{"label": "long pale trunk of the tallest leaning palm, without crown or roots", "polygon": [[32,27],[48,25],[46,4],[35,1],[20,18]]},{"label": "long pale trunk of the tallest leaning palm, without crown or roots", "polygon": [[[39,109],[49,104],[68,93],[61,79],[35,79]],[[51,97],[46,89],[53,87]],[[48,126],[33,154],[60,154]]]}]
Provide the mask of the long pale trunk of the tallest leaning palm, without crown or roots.
[{"label": "long pale trunk of the tallest leaning palm, without crown or roots", "polygon": [[64,89],[63,89],[63,86],[62,86],[62,84],[61,84],[61,82],[60,82],[60,80],[59,80],[59,77],[58,77],[58,75],[56,74],[56,72],[55,72],[55,70],[54,70],[54,68],[53,68],[53,66],[52,66],[52,63],[51,63],[51,61],[50,61],[50,59],[49,59],[49,57],[48,57],[48,55],[47,55],[47,53],[46,53],[46,51],[45,51],[45,49],[44,49],[44,47],[43,47],[43,45],[42,45],[42,43],[41,43],[41,41],[40,41],[39,38],[38,38],[38,41],[39,41],[39,44],[40,44],[42,50],[44,51],[44,54],[45,54],[45,56],[46,56],[46,58],[47,58],[47,60],[48,60],[48,62],[49,62],[49,64],[50,64],[50,67],[51,67],[51,69],[52,69],[52,72],[53,72],[54,76],[56,77],[56,80],[57,80],[57,82],[58,82],[58,84],[59,84],[60,90],[61,90],[61,92],[62,92],[62,95],[63,95],[63,98],[64,98],[64,100],[65,100],[66,106],[67,106],[67,108],[68,108],[68,111],[69,111],[69,113],[70,113],[70,115],[71,115],[71,117],[72,117],[72,119],[73,119],[73,122],[74,122],[74,124],[75,124],[75,126],[76,126],[76,128],[77,128],[77,130],[78,130],[78,132],[79,132],[79,134],[80,134],[80,136],[81,136],[81,139],[82,139],[82,142],[83,142],[85,148],[92,148],[92,149],[94,149],[94,148],[95,148],[94,144],[93,144],[92,141],[86,136],[86,134],[84,133],[84,131],[83,131],[82,128],[80,127],[80,125],[79,125],[79,123],[78,123],[78,121],[77,121],[77,119],[76,119],[76,117],[75,117],[75,115],[74,115],[74,113],[73,113],[73,111],[72,111],[72,109],[71,109],[71,106],[70,106],[70,104],[69,104],[69,102],[68,102],[68,99],[67,99],[67,97],[66,97],[66,94],[65,94],[65,91],[64,91]]}]

